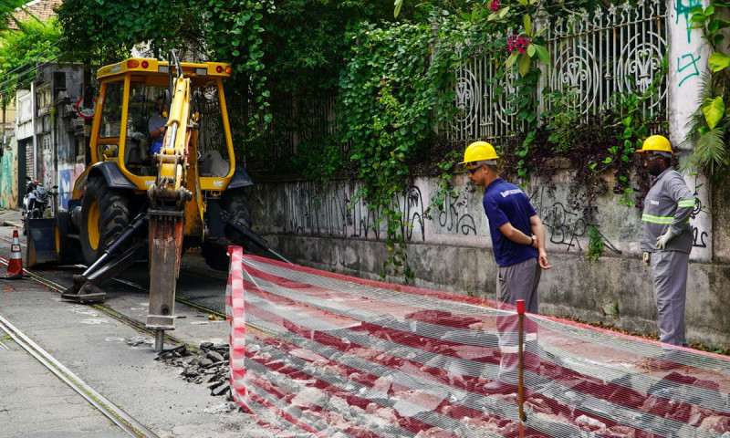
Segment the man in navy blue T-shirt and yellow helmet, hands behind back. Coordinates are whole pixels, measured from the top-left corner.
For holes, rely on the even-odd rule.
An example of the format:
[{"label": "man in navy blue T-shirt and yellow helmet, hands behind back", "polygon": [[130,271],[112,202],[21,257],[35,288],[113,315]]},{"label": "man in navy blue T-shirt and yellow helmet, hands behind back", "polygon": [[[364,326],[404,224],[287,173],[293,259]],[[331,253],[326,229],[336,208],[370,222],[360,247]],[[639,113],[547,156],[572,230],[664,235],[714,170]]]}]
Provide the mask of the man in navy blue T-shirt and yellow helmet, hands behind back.
[{"label": "man in navy blue T-shirt and yellow helmet, hands behind back", "polygon": [[[489,233],[498,267],[497,299],[511,306],[518,299],[525,300],[529,313],[539,310],[537,285],[542,269],[549,269],[545,250],[545,227],[535,212],[527,195],[515,184],[507,183],[497,172],[498,156],[495,148],[486,141],[475,141],[464,151],[469,180],[485,187],[482,199],[489,221]],[[499,346],[502,352],[497,381],[485,386],[485,391],[506,392],[516,384],[517,341],[516,318],[497,318],[500,331]],[[528,321],[527,349],[537,343],[537,327]],[[530,342],[533,340],[534,342]],[[537,351],[534,352],[537,354]],[[533,361],[537,356],[532,357]],[[529,361],[526,363],[530,367]]]}]

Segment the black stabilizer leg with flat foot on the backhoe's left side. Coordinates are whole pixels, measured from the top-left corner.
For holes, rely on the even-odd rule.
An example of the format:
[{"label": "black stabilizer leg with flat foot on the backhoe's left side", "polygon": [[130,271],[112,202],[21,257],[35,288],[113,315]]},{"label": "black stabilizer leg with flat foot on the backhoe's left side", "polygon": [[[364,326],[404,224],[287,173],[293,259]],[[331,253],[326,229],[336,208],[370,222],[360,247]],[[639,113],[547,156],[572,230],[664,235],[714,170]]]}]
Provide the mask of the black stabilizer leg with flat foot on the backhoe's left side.
[{"label": "black stabilizer leg with flat foot on the backhoe's left side", "polygon": [[123,245],[137,235],[147,224],[147,215],[142,213],[127,227],[99,259],[89,266],[83,274],[74,276],[74,284],[61,293],[61,298],[77,302],[101,301],[107,297],[99,285],[138,261],[147,251],[147,239],[141,239],[121,255],[114,256]]}]

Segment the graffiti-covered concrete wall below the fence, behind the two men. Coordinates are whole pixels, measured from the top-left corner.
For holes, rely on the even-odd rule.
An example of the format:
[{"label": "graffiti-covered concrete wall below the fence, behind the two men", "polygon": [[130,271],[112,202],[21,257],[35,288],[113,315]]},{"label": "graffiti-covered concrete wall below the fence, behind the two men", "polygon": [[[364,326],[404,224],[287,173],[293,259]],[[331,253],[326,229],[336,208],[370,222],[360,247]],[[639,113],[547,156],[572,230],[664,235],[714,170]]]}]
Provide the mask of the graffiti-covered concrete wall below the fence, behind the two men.
[{"label": "graffiti-covered concrete wall below the fence, behind the two men", "polygon": [[[651,272],[641,262],[641,211],[618,203],[618,196],[599,201],[600,217],[594,225],[607,246],[604,255],[590,263],[585,257],[589,224],[568,206],[569,180],[570,173],[564,172],[553,192],[538,182],[526,188],[546,225],[553,265],[540,282],[540,313],[657,331]],[[694,178],[687,182],[694,190]],[[457,176],[454,184],[458,196],[447,200],[442,211],[434,207],[430,218],[425,212],[432,205],[433,178],[417,178],[399,200],[408,219],[404,230],[415,286],[495,299],[496,264],[481,205],[483,192],[470,187],[465,175]],[[348,181],[258,181],[250,191],[255,230],[294,263],[379,278],[388,256],[384,224],[376,224],[377,212],[353,201],[356,192],[357,184]],[[716,205],[728,204],[730,188],[719,190],[717,197]],[[691,341],[723,348],[730,347],[727,209],[696,209],[691,219],[695,240],[686,317]],[[713,221],[719,233],[713,233]],[[712,247],[718,249],[714,255],[708,253]]]}]

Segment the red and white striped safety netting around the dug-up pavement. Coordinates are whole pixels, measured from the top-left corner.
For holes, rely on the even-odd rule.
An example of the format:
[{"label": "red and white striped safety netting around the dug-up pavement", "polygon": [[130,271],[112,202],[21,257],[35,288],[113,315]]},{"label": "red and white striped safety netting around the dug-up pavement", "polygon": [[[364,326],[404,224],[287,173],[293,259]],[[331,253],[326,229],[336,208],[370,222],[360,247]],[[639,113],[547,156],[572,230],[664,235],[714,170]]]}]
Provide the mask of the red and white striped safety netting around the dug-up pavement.
[{"label": "red and white striped safety netting around the dug-up pavement", "polygon": [[730,436],[724,356],[528,314],[520,423],[499,303],[239,248],[227,306],[235,400],[278,436]]}]

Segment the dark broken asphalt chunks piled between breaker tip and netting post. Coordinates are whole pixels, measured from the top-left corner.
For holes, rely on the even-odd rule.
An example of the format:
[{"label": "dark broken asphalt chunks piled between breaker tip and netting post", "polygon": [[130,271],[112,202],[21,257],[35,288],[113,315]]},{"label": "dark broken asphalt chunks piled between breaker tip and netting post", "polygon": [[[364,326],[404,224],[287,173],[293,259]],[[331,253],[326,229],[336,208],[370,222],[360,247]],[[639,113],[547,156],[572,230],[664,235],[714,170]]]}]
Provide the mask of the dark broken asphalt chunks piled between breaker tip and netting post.
[{"label": "dark broken asphalt chunks piled between breaker tip and netting post", "polygon": [[230,381],[228,379],[230,365],[228,363],[228,344],[203,342],[200,351],[191,351],[182,345],[174,349],[165,349],[155,360],[162,360],[173,367],[183,368],[181,375],[186,381],[205,384],[211,395],[233,400]]}]

